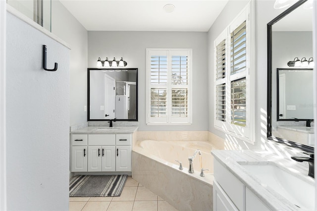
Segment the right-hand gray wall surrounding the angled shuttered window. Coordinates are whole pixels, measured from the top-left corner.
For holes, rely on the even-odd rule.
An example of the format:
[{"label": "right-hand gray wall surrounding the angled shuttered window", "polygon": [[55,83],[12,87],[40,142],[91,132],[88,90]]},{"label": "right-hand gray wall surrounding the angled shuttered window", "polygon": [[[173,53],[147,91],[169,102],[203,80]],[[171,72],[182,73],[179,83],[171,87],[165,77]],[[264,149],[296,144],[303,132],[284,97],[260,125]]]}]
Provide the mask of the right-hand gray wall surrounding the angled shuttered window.
[{"label": "right-hand gray wall surrounding the angled shuttered window", "polygon": [[280,14],[283,10],[274,9],[273,0],[255,1],[255,31],[256,31],[256,96],[255,96],[255,128],[256,143],[254,145],[230,137],[225,133],[216,130],[213,124],[213,41],[233,20],[233,18],[245,7],[249,0],[228,1],[216,21],[208,32],[208,69],[209,69],[209,131],[215,135],[226,139],[237,149],[266,149],[266,87],[267,87],[267,36],[266,24]]}]

